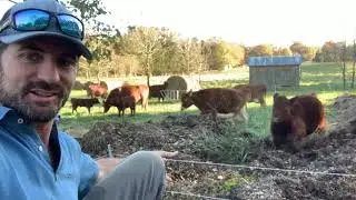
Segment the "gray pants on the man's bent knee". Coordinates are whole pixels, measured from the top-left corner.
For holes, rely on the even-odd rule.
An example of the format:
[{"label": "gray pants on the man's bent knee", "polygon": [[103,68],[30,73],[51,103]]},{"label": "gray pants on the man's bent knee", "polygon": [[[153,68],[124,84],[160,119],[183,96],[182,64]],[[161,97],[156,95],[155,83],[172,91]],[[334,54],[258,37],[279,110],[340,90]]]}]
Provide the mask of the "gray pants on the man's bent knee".
[{"label": "gray pants on the man's bent knee", "polygon": [[85,200],[162,199],[166,170],[162,159],[149,151],[127,157],[106,178],[93,186]]}]

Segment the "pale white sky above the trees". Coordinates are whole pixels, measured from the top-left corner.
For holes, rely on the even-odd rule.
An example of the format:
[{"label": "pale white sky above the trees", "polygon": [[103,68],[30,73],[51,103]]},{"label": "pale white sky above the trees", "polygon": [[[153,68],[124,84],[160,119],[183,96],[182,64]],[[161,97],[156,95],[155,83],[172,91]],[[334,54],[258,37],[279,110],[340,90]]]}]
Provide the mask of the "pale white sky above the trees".
[{"label": "pale white sky above the trees", "polygon": [[[20,0],[16,0],[20,1]],[[245,46],[288,47],[352,42],[356,0],[102,0],[101,18],[121,32],[127,26],[166,27],[182,38],[221,38]],[[12,3],[0,0],[0,16]]]}]

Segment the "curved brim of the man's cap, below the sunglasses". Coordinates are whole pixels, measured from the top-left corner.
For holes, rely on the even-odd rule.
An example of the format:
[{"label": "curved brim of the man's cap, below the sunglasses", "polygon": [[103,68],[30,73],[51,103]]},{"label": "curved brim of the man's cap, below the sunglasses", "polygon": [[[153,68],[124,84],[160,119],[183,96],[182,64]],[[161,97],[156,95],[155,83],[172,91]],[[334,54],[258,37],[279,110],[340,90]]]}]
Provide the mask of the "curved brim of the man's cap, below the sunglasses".
[{"label": "curved brim of the man's cap, below the sunglasses", "polygon": [[75,39],[72,37],[65,36],[65,34],[57,33],[57,32],[28,31],[28,32],[10,34],[10,36],[0,36],[0,40],[3,43],[10,44],[13,42],[19,42],[19,41],[23,41],[23,40],[27,40],[30,38],[37,38],[37,37],[41,37],[41,36],[55,37],[55,38],[63,39],[68,42],[71,42],[72,44],[75,44],[77,47],[80,54],[82,54],[86,59],[88,59],[88,60],[92,59],[92,56],[91,56],[89,49],[79,39]]}]

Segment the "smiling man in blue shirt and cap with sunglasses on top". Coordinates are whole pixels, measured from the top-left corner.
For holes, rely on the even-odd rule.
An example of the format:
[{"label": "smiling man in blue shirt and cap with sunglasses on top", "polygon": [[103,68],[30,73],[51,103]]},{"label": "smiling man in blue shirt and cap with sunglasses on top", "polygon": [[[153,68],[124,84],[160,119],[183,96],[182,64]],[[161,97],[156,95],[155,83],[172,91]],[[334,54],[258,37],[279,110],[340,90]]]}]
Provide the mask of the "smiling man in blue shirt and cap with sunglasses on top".
[{"label": "smiling man in blue shirt and cap with sunglasses on top", "polygon": [[142,151],[92,160],[57,129],[78,59],[90,59],[82,22],[55,0],[28,0],[0,21],[0,199],[160,199],[162,158]]}]

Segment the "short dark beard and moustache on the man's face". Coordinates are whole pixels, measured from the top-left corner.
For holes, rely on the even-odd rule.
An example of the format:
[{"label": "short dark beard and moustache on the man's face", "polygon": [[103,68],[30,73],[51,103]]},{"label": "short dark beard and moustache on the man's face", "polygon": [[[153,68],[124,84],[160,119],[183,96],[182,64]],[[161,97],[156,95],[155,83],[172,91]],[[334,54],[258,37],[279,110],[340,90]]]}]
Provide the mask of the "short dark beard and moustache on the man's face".
[{"label": "short dark beard and moustache on the man's face", "polygon": [[[49,122],[55,119],[59,110],[65,106],[69,98],[69,90],[57,83],[48,83],[46,81],[29,81],[23,87],[11,87],[10,81],[4,79],[2,69],[0,68],[0,102],[2,106],[14,109],[20,116],[29,122]],[[56,104],[41,104],[27,101],[26,97],[33,89],[55,90],[58,91]],[[40,110],[39,110],[40,108]]]}]

